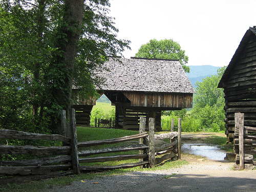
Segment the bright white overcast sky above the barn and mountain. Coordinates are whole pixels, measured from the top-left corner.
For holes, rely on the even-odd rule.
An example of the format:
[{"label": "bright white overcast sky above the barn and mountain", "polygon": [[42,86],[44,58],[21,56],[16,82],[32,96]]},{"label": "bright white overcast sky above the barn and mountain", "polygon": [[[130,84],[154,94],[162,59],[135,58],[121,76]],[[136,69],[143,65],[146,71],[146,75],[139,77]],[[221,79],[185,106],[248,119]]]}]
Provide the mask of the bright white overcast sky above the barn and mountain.
[{"label": "bright white overcast sky above the barn and mountain", "polygon": [[249,27],[255,0],[110,0],[117,38],[131,40],[125,58],[150,39],[173,39],[189,66],[227,66]]}]

